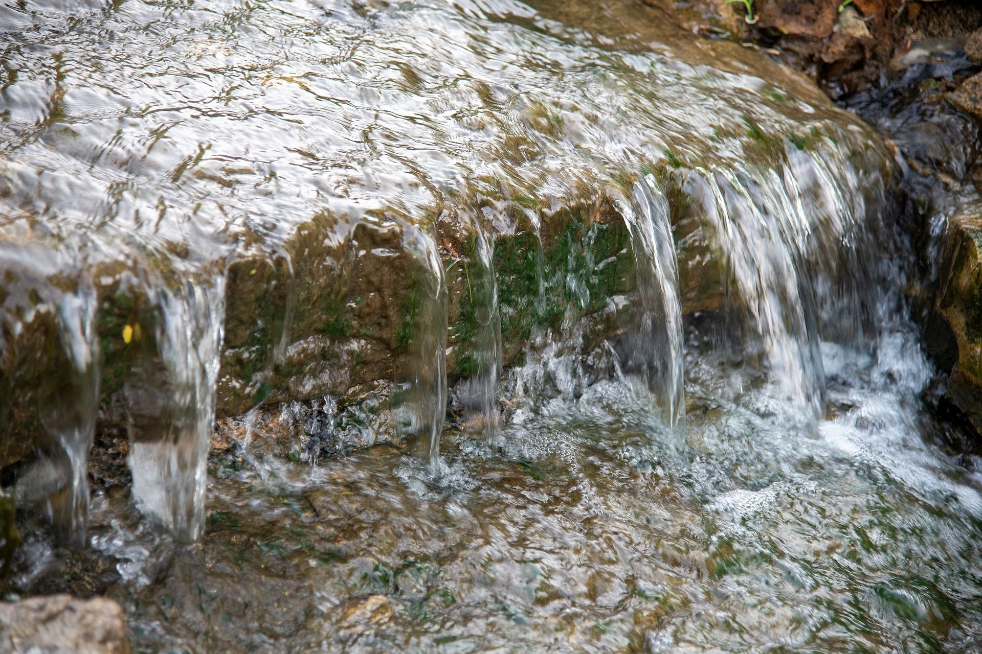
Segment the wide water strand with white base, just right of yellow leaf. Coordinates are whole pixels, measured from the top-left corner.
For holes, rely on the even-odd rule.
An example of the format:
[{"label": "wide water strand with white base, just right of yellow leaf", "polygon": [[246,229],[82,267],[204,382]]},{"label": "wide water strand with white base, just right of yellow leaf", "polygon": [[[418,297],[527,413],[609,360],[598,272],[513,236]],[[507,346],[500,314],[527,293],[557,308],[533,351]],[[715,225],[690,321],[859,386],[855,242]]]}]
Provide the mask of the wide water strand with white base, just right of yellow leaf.
[{"label": "wide water strand with white base, just right of yellow leaf", "polygon": [[[131,420],[136,503],[175,535],[189,539],[200,536],[204,526],[224,308],[221,275],[210,286],[189,280],[161,293],[156,337],[166,379],[154,397],[144,397],[150,406],[135,408],[143,420]],[[149,379],[139,383],[151,385]]]}]

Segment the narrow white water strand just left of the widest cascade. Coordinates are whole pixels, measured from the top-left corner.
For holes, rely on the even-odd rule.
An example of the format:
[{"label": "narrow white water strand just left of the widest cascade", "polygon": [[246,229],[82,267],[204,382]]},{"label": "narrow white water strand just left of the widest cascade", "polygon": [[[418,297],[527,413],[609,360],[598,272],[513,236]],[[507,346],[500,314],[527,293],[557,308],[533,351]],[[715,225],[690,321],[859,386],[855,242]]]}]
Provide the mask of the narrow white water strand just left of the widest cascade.
[{"label": "narrow white water strand just left of the widest cascade", "polygon": [[638,180],[629,204],[622,203],[637,267],[643,315],[621,362],[639,372],[654,393],[665,421],[684,428],[684,365],[679,268],[669,206],[651,176]]}]

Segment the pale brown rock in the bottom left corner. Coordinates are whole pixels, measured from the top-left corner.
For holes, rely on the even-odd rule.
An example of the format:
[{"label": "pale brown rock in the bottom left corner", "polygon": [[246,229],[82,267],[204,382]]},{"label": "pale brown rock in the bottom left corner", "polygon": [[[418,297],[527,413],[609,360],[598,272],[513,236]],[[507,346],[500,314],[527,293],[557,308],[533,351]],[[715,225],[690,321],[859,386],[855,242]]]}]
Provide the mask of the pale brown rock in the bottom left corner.
[{"label": "pale brown rock in the bottom left corner", "polygon": [[104,597],[0,603],[0,650],[10,654],[129,654],[123,609]]}]

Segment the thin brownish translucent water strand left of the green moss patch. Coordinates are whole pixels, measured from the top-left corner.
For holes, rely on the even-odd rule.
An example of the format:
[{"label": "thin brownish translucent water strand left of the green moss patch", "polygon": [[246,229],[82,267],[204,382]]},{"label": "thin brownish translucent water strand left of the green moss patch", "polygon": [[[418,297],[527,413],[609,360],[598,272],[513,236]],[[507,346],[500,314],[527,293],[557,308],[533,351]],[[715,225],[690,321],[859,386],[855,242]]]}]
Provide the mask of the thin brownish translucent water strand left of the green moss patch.
[{"label": "thin brownish translucent water strand left of the green moss patch", "polygon": [[401,434],[417,438],[416,453],[435,471],[447,413],[447,281],[434,238],[406,226],[403,247],[415,286],[409,352],[402,381],[393,392]]}]

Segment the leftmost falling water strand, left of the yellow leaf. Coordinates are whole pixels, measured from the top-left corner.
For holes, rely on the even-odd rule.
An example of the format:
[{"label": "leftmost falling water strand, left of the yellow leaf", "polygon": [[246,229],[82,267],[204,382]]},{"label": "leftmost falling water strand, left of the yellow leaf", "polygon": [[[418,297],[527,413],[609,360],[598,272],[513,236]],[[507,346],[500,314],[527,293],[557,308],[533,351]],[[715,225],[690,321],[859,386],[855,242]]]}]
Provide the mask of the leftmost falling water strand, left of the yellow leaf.
[{"label": "leftmost falling water strand, left of the yellow leaf", "polygon": [[88,454],[99,407],[99,345],[94,289],[82,286],[58,303],[59,340],[71,366],[64,393],[47,399],[41,424],[61,446],[68,464],[66,488],[50,499],[55,526],[71,541],[84,542],[88,524]]}]

